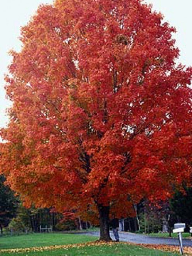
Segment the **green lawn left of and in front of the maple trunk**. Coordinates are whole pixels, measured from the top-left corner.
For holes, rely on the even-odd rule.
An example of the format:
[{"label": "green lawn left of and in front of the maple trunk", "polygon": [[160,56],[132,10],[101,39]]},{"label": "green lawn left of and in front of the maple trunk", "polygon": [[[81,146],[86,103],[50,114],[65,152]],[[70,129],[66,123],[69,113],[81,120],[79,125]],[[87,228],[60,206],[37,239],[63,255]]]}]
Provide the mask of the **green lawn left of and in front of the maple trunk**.
[{"label": "green lawn left of and in front of the maple trunk", "polygon": [[[0,256],[173,256],[142,246],[125,243],[86,243],[95,241],[92,236],[75,234],[29,234],[0,238]],[[52,246],[51,246],[52,245]],[[46,246],[46,247],[45,247]],[[11,249],[12,248],[12,249]],[[14,249],[15,248],[15,249]],[[21,249],[16,249],[21,248]],[[2,249],[9,249],[3,252]]]}]

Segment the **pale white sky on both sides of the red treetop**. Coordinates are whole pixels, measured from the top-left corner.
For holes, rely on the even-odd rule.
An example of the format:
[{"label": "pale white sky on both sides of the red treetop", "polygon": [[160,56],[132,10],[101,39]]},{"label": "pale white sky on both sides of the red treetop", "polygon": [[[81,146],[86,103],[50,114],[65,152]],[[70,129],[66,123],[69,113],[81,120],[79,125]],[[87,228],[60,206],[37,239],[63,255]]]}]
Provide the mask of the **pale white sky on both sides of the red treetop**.
[{"label": "pale white sky on both sides of the red treetop", "polygon": [[[176,27],[176,45],[180,49],[180,62],[192,66],[192,0],[145,0],[153,4],[153,9],[160,11],[171,26]],[[11,62],[8,51],[19,51],[20,27],[27,24],[41,3],[53,3],[52,0],[0,0],[0,127],[8,121],[5,109],[10,102],[5,99],[4,74]]]}]

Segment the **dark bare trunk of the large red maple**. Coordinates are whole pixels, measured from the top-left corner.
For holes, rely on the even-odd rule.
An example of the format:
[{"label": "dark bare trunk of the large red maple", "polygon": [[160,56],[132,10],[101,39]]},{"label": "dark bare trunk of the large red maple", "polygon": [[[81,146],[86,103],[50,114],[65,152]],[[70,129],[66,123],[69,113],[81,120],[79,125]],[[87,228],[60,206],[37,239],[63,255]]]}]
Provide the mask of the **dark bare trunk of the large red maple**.
[{"label": "dark bare trunk of the large red maple", "polygon": [[103,206],[102,204],[97,204],[99,211],[99,223],[100,223],[100,238],[102,241],[111,241],[110,237],[110,226],[109,226],[109,206]]}]

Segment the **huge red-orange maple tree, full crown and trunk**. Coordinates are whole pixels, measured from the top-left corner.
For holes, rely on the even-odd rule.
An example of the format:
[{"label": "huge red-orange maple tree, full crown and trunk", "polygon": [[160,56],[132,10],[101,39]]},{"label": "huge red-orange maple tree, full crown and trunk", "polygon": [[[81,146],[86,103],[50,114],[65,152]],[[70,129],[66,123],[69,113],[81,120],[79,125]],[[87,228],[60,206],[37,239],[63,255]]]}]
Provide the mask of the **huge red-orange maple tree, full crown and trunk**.
[{"label": "huge red-orange maple tree, full crown and trunk", "polygon": [[28,205],[108,220],[192,179],[192,69],[140,0],[56,0],[12,51],[1,171]]}]

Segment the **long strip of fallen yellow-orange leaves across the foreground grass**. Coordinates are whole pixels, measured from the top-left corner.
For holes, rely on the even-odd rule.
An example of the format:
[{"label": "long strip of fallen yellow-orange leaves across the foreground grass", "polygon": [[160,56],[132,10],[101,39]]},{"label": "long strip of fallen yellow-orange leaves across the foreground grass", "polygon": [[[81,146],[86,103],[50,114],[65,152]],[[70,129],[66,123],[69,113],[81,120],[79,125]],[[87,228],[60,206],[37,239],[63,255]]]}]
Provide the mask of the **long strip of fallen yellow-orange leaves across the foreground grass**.
[{"label": "long strip of fallen yellow-orange leaves across the foreground grass", "polygon": [[[15,248],[15,249],[1,249],[0,253],[8,252],[8,253],[21,253],[21,252],[42,252],[42,251],[50,251],[50,250],[56,250],[56,249],[70,249],[70,248],[83,248],[85,246],[112,246],[116,244],[116,242],[104,242],[104,241],[95,241],[95,242],[87,242],[82,244],[69,244],[69,245],[51,245],[51,246],[42,246],[42,247],[31,247],[31,248]],[[138,245],[143,246],[145,248],[149,249],[156,249],[166,252],[173,252],[178,253],[179,252],[179,246],[174,245],[155,245],[155,244],[134,244],[130,242],[119,242],[118,244],[124,244],[124,245]],[[184,247],[184,255],[192,255],[192,247]]]}]

